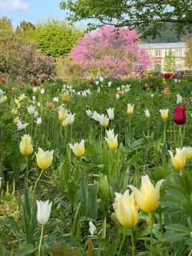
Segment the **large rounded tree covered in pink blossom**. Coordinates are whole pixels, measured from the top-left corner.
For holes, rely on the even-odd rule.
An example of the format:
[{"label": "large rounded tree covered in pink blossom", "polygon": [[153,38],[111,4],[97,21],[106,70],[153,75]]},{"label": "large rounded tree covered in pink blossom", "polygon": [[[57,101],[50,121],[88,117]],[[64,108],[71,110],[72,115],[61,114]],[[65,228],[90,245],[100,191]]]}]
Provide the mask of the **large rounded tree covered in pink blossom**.
[{"label": "large rounded tree covered in pink blossom", "polygon": [[139,45],[135,30],[102,26],[79,38],[69,57],[79,63],[84,73],[100,72],[107,77],[121,77],[131,72],[139,73],[152,65],[146,49]]}]

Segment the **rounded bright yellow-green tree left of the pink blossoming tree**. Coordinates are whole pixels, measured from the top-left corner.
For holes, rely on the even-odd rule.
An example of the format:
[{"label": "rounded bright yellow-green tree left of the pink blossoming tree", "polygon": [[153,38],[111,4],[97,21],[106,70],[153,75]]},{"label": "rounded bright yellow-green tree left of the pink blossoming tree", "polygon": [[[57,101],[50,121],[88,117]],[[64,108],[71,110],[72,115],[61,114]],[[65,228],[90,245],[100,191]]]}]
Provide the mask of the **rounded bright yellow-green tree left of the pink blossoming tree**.
[{"label": "rounded bright yellow-green tree left of the pink blossoming tree", "polygon": [[48,18],[38,22],[35,29],[28,30],[27,34],[31,40],[38,42],[38,49],[43,54],[66,57],[83,32],[62,20]]}]

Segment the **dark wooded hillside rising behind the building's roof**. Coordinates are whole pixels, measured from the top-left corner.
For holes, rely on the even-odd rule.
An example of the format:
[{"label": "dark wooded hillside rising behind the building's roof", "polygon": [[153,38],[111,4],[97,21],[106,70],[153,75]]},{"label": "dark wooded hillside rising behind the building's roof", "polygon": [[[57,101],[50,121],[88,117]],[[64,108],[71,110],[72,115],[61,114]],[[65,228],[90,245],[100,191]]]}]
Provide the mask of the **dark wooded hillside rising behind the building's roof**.
[{"label": "dark wooded hillside rising behind the building's roof", "polygon": [[[167,24],[166,25],[167,30],[169,30],[172,27],[172,24]],[[161,28],[160,35],[161,37],[157,37],[155,39],[152,38],[152,36],[149,36],[148,38],[144,39],[143,42],[148,42],[148,43],[155,43],[155,42],[185,42],[187,39],[192,38],[192,34],[187,34],[186,36],[180,36],[178,38],[177,33],[172,30],[172,31],[167,31],[164,30],[164,28]]]}]

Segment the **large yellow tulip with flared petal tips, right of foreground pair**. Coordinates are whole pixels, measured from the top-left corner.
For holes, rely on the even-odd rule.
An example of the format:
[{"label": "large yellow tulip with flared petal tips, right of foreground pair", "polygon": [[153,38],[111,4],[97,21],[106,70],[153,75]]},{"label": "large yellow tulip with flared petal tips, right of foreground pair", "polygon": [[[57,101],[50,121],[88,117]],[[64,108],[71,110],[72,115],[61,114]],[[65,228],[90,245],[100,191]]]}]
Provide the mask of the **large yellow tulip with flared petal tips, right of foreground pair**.
[{"label": "large yellow tulip with flared petal tips, right of foreground pair", "polygon": [[135,195],[137,205],[144,212],[154,212],[160,205],[158,201],[160,199],[160,187],[164,180],[158,181],[156,188],[152,185],[148,175],[141,177],[141,189],[137,189],[132,185],[129,185],[130,189]]}]

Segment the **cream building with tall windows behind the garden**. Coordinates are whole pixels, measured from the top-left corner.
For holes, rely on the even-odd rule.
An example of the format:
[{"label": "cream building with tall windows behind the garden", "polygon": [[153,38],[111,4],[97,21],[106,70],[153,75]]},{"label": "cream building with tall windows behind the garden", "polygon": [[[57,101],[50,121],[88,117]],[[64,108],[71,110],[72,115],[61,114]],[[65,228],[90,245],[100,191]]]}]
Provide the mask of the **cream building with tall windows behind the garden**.
[{"label": "cream building with tall windows behind the garden", "polygon": [[141,47],[148,49],[152,57],[153,71],[168,72],[187,69],[184,63],[187,50],[185,42],[141,44]]}]

